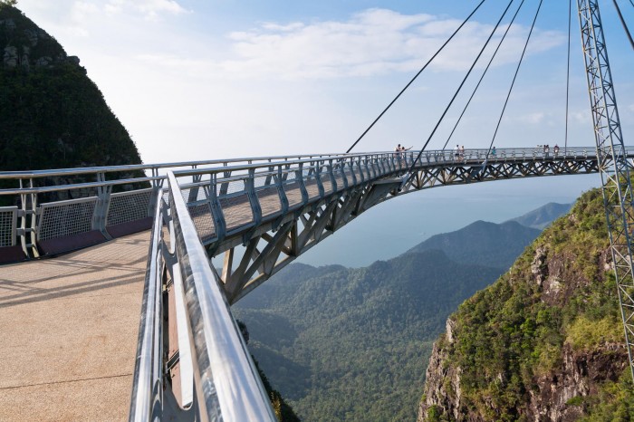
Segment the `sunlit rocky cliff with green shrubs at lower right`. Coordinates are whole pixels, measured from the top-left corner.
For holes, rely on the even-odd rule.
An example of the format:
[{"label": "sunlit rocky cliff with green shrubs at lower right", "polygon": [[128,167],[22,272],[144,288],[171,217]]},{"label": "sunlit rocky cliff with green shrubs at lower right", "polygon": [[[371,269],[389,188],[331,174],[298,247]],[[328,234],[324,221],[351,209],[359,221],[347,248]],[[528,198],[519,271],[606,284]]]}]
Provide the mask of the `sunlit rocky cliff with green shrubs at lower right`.
[{"label": "sunlit rocky cliff with green shrubs at lower right", "polygon": [[418,421],[634,420],[618,303],[595,190],[449,318]]}]

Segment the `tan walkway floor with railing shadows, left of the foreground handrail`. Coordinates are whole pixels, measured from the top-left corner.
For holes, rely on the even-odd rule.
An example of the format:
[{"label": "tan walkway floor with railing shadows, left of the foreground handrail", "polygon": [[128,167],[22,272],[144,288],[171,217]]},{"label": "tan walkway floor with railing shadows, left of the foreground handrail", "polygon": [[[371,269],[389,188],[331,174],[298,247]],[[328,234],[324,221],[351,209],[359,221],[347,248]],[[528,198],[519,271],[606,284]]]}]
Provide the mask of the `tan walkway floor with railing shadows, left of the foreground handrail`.
[{"label": "tan walkway floor with railing shadows, left of the foreground handrail", "polygon": [[127,419],[148,247],[0,266],[0,421]]}]

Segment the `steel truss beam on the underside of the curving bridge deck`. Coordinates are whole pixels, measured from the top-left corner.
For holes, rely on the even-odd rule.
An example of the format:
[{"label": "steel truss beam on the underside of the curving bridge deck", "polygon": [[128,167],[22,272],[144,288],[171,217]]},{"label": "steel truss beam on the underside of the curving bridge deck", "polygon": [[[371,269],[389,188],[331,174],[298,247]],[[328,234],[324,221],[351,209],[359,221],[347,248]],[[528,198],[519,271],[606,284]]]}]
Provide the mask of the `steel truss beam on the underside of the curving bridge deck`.
[{"label": "steel truss beam on the underside of the curving bridge deck", "polygon": [[207,244],[207,251],[215,255],[224,254],[222,273],[218,278],[225,286],[228,301],[234,303],[356,216],[388,199],[429,187],[597,171],[596,158],[582,156],[545,160],[514,158],[489,161],[484,167],[482,162],[428,166],[419,168],[403,187],[402,179],[393,177],[351,187],[343,193],[305,206],[291,218],[286,216],[275,231],[271,225],[268,231],[266,228],[252,228],[250,233],[253,236],[245,242],[241,234],[237,234],[233,239],[224,239],[221,244]]}]

